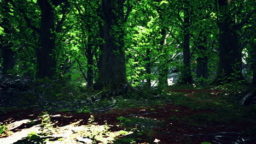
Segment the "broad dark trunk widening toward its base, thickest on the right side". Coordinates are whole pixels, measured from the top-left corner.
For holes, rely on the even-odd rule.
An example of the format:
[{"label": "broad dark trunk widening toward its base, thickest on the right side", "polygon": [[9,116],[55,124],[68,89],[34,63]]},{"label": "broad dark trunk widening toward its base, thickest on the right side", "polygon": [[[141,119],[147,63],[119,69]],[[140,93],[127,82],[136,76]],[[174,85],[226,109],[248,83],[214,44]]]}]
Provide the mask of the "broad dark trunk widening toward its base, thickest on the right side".
[{"label": "broad dark trunk widening toward its base, thickest on the right side", "polygon": [[[219,69],[216,83],[243,80],[242,50],[236,25],[232,22],[228,0],[219,0]],[[230,79],[232,77],[233,79]]]}]

